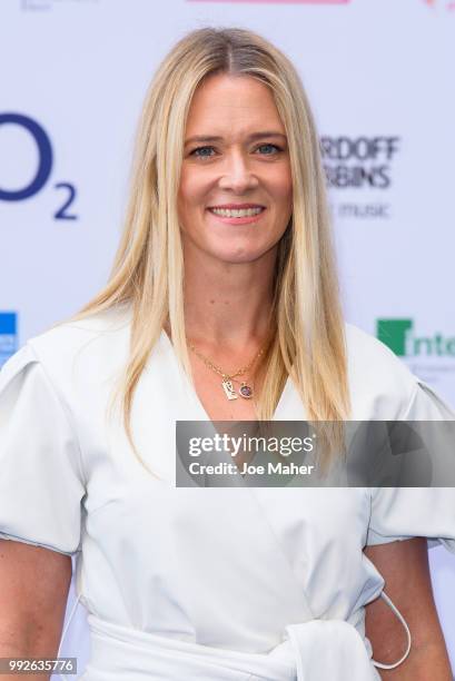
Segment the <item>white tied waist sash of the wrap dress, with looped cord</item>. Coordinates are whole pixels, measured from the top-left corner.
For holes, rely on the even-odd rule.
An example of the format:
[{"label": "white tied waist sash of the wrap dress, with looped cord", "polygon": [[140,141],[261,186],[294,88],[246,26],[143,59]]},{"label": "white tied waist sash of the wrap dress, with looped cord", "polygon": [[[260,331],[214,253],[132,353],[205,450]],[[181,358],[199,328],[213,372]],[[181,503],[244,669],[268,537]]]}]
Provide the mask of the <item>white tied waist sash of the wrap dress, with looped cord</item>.
[{"label": "white tied waist sash of the wrap dress, with looped cord", "polygon": [[[344,681],[346,670],[353,681],[377,680],[374,667],[395,669],[411,651],[411,632],[400,612],[383,591],[380,596],[402,621],[407,635],[406,652],[399,660],[384,664],[370,659],[368,639],[356,629],[355,620],[308,620],[285,626],[284,642],[266,654],[245,653],[177,641],[88,616],[91,640],[90,663],[93,679],[128,679],[130,681],[307,681],[330,679]],[[67,622],[68,630],[76,605]],[[59,650],[60,653],[60,650]],[[68,681],[61,674],[63,681]],[[81,677],[83,679],[83,675]]]}]

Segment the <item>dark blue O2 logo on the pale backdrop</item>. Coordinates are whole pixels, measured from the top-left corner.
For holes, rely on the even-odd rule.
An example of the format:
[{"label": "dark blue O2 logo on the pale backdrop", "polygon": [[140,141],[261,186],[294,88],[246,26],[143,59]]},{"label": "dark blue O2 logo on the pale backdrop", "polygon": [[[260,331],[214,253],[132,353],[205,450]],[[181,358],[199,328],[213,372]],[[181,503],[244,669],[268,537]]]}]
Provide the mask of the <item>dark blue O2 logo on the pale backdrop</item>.
[{"label": "dark blue O2 logo on the pale backdrop", "polygon": [[[0,187],[1,201],[23,201],[41,191],[48,181],[53,161],[52,145],[44,128],[28,116],[22,116],[21,114],[0,114],[0,126],[4,125],[20,126],[24,129],[32,137],[38,150],[37,172],[29,185],[16,190]],[[73,204],[77,194],[75,185],[71,182],[57,182],[53,185],[53,188],[61,194],[65,191],[66,195],[53,214],[55,219],[77,220],[78,216],[70,211],[70,206]]]}]

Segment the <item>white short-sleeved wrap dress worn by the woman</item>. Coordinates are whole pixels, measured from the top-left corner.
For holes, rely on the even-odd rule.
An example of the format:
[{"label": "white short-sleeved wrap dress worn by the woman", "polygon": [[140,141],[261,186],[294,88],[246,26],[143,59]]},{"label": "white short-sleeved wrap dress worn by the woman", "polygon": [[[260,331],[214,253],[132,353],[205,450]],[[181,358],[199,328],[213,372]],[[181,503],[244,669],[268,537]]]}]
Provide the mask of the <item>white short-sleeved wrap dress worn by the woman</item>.
[{"label": "white short-sleeved wrap dress worn by the woman", "polygon": [[[455,418],[385,345],[346,333],[353,418]],[[165,333],[132,409],[159,481],[105,422],[128,336],[127,308],[66,323],[0,372],[0,537],[77,553],[83,681],[377,680],[364,605],[384,580],[363,549],[426,536],[455,553],[455,490],[176,487],[175,421],[208,416]],[[288,381],[274,418],[305,417]]]}]

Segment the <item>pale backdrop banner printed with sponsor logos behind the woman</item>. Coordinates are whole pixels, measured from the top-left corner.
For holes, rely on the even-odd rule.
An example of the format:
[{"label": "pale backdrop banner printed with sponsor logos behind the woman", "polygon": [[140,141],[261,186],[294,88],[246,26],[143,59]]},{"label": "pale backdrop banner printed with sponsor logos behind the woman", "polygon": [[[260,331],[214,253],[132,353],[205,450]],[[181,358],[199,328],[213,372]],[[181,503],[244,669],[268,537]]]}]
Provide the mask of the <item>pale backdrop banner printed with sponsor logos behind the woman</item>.
[{"label": "pale backdrop banner printed with sponsor logos behind the woman", "polygon": [[[177,39],[202,26],[254,29],[297,66],[346,318],[455,404],[449,0],[2,0],[0,365],[106,282],[145,91]],[[429,554],[455,668],[455,561]],[[72,599],[73,584],[67,623]],[[62,653],[78,650],[83,667],[75,605]]]}]

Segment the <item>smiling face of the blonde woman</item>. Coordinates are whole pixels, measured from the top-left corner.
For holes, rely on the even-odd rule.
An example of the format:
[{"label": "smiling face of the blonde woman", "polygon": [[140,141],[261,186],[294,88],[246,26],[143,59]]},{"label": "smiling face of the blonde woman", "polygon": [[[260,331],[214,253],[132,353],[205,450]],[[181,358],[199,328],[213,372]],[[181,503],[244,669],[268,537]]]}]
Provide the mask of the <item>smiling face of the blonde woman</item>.
[{"label": "smiling face of the blonde woman", "polygon": [[257,260],[286,230],[291,203],[287,139],[270,90],[248,76],[208,77],[185,134],[178,214],[187,255],[196,248],[224,263]]}]

